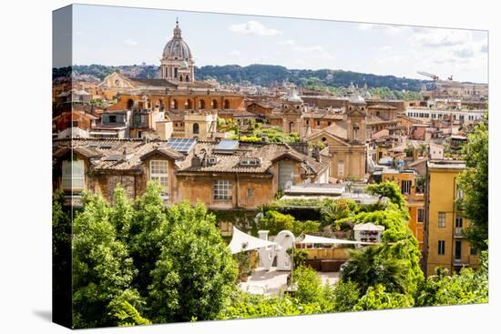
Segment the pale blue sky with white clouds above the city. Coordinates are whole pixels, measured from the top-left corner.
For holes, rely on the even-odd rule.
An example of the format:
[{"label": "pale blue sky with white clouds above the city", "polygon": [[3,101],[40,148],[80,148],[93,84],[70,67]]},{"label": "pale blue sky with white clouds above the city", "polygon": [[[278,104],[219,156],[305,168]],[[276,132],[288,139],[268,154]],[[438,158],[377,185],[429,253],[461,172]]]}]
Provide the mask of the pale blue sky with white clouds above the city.
[{"label": "pale blue sky with white clouds above the city", "polygon": [[73,63],[159,64],[179,17],[196,66],[271,64],[487,82],[487,33],[251,15],[75,5]]}]

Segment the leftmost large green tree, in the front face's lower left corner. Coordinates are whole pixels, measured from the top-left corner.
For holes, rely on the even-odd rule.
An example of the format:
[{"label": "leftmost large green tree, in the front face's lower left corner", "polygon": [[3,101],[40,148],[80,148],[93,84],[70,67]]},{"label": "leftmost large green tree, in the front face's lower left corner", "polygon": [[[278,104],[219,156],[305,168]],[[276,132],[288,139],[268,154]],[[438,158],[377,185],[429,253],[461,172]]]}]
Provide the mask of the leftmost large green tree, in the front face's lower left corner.
[{"label": "leftmost large green tree, in the front face's lower left corner", "polygon": [[127,246],[117,238],[117,227],[111,219],[116,214],[102,197],[85,194],[84,209],[74,219],[73,319],[76,328],[114,326],[116,319],[110,314],[113,301],[128,296],[131,304],[138,302],[138,293],[130,288],[137,270]]}]

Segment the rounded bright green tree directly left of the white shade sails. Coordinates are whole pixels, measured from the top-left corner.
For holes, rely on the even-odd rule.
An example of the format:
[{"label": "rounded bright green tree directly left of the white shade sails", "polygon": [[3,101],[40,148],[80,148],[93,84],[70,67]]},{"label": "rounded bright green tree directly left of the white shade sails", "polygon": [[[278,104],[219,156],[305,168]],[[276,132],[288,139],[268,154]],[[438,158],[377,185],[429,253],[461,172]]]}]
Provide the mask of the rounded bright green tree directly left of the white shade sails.
[{"label": "rounded bright green tree directly left of the white shade sails", "polygon": [[214,319],[234,287],[237,265],[213,215],[198,204],[167,210],[169,233],[151,272],[148,305],[155,322]]}]

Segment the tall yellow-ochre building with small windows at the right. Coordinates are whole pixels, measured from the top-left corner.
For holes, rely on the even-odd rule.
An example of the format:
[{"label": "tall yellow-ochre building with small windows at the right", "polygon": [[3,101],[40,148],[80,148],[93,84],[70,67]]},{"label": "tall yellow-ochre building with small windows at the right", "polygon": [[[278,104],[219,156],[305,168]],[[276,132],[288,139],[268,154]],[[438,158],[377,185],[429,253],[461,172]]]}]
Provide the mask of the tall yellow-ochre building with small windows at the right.
[{"label": "tall yellow-ochre building with small windows at the right", "polygon": [[478,251],[470,247],[463,235],[468,222],[455,205],[455,199],[463,196],[457,187],[458,176],[463,170],[463,161],[427,162],[423,253],[426,276],[435,275],[438,267],[449,272],[478,267]]}]

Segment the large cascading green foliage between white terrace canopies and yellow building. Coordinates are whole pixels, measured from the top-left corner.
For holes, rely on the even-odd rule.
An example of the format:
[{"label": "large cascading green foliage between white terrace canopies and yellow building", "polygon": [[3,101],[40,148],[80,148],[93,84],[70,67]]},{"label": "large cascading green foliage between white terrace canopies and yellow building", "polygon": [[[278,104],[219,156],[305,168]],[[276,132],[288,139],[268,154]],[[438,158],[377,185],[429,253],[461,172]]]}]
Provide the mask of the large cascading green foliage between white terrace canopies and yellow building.
[{"label": "large cascading green foliage between white terrace canopies and yellow building", "polygon": [[371,185],[367,191],[387,197],[389,203],[383,209],[360,212],[342,221],[382,225],[385,228],[383,243],[353,251],[342,278],[356,282],[362,293],[382,284],[390,292],[413,294],[424,275],[419,266],[421,254],[417,240],[408,228],[405,198],[393,182]]}]

